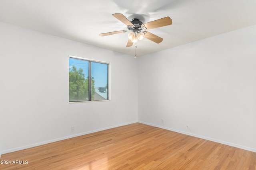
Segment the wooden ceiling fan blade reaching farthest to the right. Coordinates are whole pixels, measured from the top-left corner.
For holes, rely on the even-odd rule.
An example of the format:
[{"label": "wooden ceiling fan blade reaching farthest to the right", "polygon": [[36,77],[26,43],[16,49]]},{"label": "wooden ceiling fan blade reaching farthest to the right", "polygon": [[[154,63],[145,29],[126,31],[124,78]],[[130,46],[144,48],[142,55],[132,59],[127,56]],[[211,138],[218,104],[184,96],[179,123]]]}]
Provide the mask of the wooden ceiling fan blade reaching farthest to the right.
[{"label": "wooden ceiling fan blade reaching farthest to the right", "polygon": [[163,26],[171,25],[171,24],[172,24],[172,19],[170,17],[165,17],[165,18],[161,18],[159,20],[144,23],[141,25],[141,27],[143,29],[152,29],[152,28],[163,27]]}]

